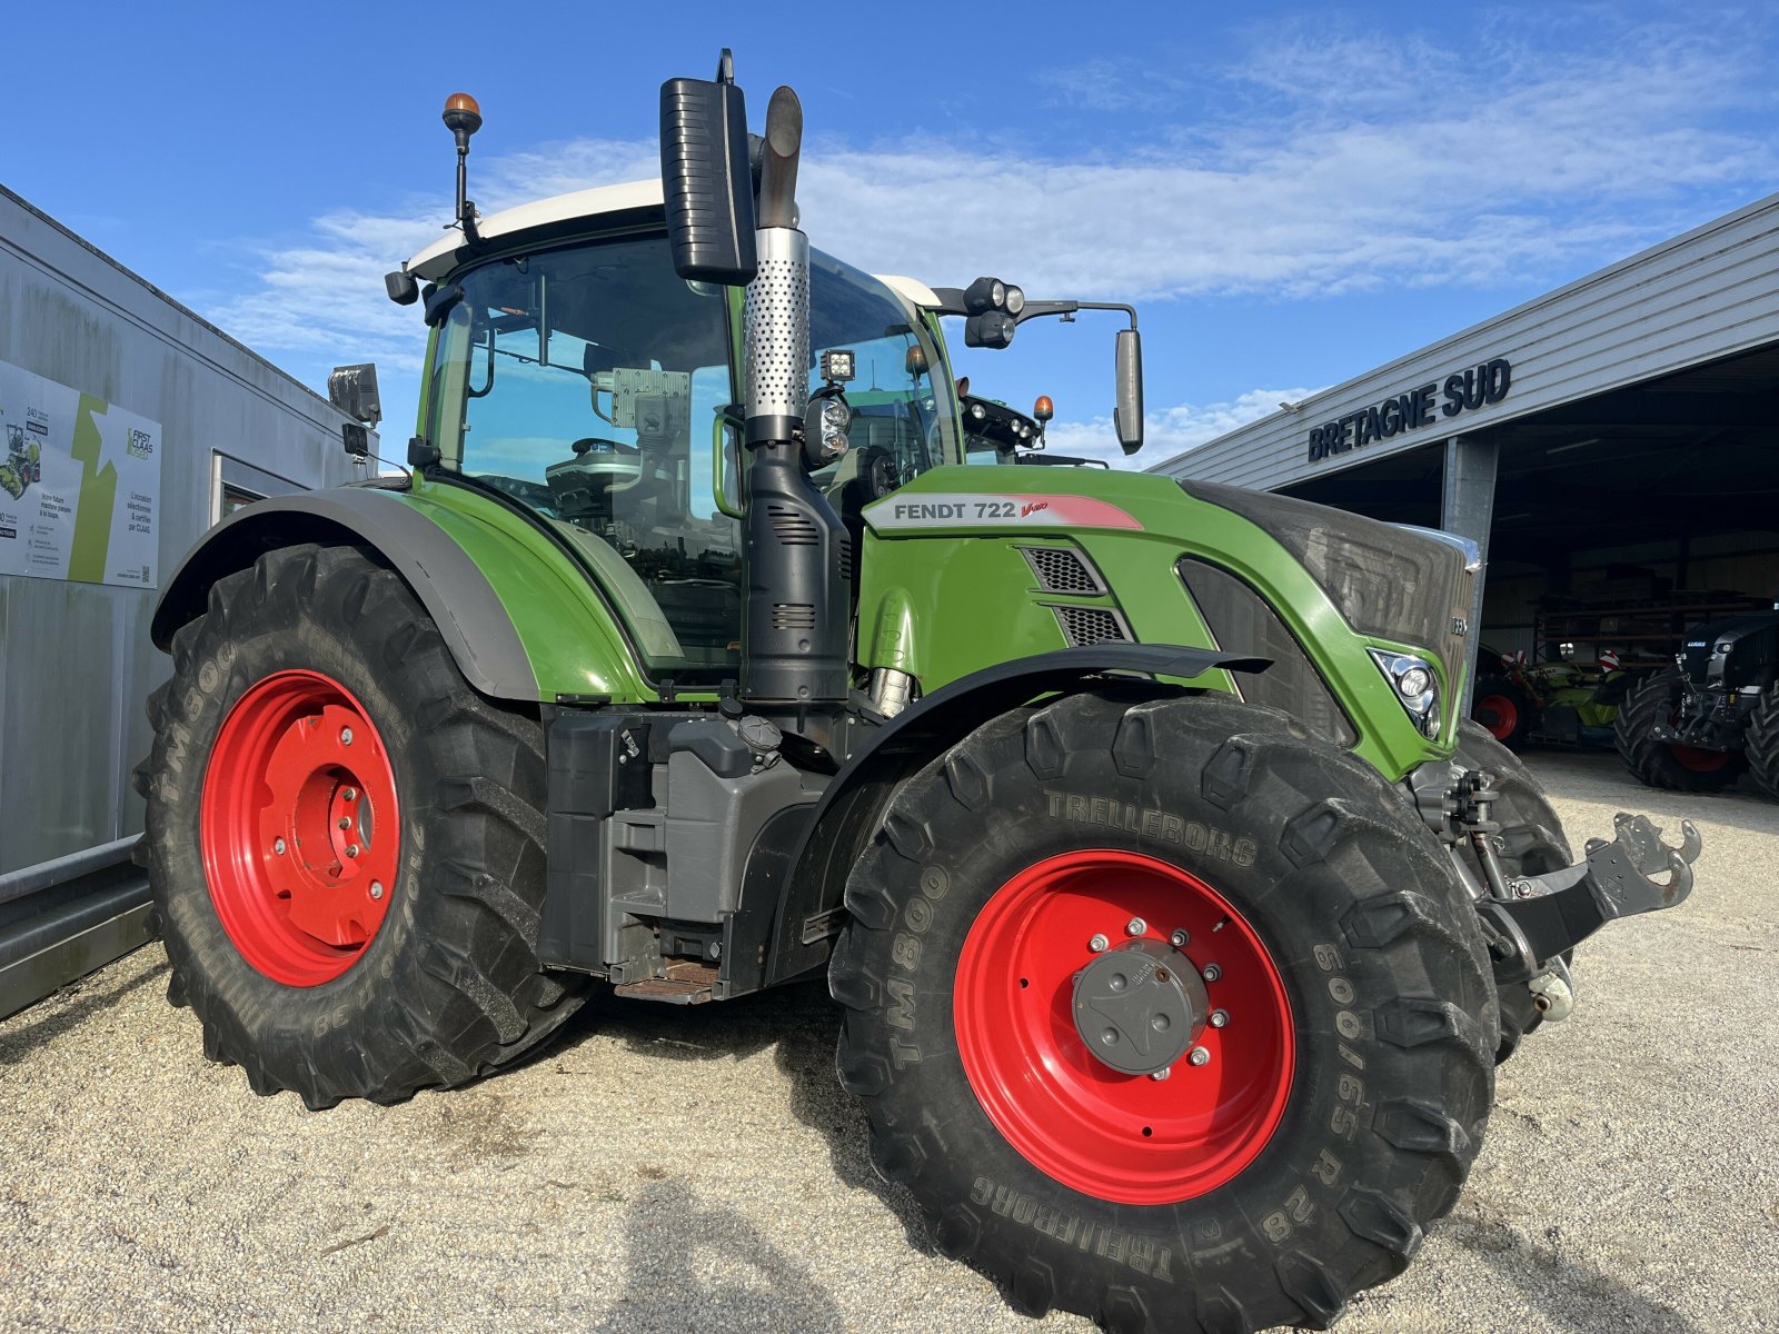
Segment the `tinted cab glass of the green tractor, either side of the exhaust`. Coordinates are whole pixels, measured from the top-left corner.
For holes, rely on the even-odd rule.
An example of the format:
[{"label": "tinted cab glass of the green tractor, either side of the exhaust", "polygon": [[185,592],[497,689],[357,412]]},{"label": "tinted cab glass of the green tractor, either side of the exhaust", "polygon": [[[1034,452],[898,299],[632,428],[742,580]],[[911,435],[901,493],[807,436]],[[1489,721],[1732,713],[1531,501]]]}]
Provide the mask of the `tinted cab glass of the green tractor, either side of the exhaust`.
[{"label": "tinted cab glass of the green tractor, either side of the exhaust", "polygon": [[[845,503],[861,468],[893,487],[957,461],[952,384],[929,334],[868,274],[824,254],[811,270],[811,361],[857,356],[852,448],[815,484]],[[729,290],[681,281],[665,237],[491,260],[455,281],[464,295],[429,384],[441,468],[539,514],[592,571],[649,676],[735,676],[742,525],[717,505],[712,443],[740,400]]]}]

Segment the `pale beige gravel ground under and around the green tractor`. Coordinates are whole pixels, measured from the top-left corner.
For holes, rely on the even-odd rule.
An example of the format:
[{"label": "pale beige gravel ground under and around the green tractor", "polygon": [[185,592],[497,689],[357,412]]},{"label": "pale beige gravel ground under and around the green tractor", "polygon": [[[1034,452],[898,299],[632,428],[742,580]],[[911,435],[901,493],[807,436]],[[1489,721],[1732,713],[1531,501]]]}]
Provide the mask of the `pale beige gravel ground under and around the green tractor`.
[{"label": "pale beige gravel ground under and around the green tractor", "polygon": [[[1340,1329],[1779,1329],[1779,806],[1535,754],[1571,838],[1706,836],[1505,1067],[1455,1213]],[[0,1329],[1085,1330],[877,1183],[815,987],[584,1012],[523,1067],[304,1112],[205,1064],[158,946],[0,1023]]]}]

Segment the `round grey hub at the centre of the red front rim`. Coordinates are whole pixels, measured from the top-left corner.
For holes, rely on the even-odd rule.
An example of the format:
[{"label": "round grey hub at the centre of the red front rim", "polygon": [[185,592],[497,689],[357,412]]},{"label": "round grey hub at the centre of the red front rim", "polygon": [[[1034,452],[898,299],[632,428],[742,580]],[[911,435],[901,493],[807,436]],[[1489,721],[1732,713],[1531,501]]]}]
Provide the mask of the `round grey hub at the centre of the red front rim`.
[{"label": "round grey hub at the centre of the red front rim", "polygon": [[1155,1074],[1179,1060],[1210,1016],[1192,960],[1162,941],[1131,941],[1075,975],[1075,1030],[1103,1065]]}]

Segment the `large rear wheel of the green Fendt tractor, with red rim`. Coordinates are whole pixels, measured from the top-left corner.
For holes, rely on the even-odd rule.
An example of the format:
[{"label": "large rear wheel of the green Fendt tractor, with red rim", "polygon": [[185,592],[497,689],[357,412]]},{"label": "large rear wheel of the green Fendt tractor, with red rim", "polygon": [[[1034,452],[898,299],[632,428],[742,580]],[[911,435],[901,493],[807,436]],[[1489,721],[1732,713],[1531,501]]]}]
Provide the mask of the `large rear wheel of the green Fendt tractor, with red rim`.
[{"label": "large rear wheel of the green Fendt tractor, with red rim", "polygon": [[400,578],[352,548],[269,551],[173,660],[144,845],[169,998],[206,1057],[310,1108],[390,1103],[575,1012],[535,948],[539,722],[464,683]]}]

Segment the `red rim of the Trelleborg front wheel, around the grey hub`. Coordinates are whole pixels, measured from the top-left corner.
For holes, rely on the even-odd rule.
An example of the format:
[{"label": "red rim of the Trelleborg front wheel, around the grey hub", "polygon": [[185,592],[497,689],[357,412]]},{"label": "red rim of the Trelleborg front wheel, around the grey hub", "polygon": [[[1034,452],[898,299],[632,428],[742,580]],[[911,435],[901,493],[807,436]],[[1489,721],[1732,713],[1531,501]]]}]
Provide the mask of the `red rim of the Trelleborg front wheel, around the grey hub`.
[{"label": "red rim of the Trelleborg front wheel, around the grey hub", "polygon": [[[1228,1026],[1203,1026],[1169,1078],[1101,1064],[1073,1016],[1075,975],[1112,948],[1169,941],[1201,973]],[[982,1110],[1041,1172],[1121,1204],[1171,1204],[1235,1177],[1267,1145],[1292,1089],[1295,1044],[1284,982],[1240,912],[1195,875],[1155,857],[1096,848],[1028,866],[982,907],[957,960],[957,1049]]]}]

